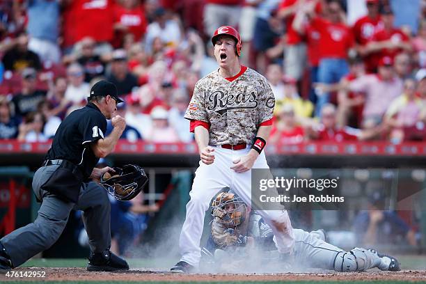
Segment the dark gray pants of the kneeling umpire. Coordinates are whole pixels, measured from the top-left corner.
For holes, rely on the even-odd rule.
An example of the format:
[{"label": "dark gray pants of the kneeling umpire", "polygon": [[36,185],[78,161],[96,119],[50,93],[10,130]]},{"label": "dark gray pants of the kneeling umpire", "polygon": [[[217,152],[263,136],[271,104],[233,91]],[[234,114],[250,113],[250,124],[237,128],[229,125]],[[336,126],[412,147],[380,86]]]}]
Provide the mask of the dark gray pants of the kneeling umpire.
[{"label": "dark gray pants of the kneeling umpire", "polygon": [[72,209],[84,211],[84,226],[93,252],[100,253],[111,246],[111,207],[107,192],[95,182],[84,183],[78,202],[66,203],[54,194],[40,189],[56,168],[58,165],[42,166],[34,175],[33,191],[42,200],[36,221],[0,239],[10,255],[13,267],[22,265],[52,246],[61,236]]}]

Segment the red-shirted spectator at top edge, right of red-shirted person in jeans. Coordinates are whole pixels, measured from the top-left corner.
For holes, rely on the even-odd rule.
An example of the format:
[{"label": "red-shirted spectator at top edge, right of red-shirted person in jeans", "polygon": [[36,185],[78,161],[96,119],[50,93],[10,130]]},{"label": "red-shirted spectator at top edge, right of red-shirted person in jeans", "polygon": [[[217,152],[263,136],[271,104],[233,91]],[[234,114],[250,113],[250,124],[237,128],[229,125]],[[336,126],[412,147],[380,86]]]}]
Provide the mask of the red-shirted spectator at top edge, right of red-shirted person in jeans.
[{"label": "red-shirted spectator at top edge, right of red-shirted person in jeans", "polygon": [[373,39],[374,33],[383,29],[383,22],[379,14],[380,1],[379,0],[367,0],[367,15],[359,18],[352,31],[354,33],[355,42],[358,44],[358,52],[363,56],[365,67],[368,72],[374,72],[375,66],[372,61],[372,56],[364,54],[365,46]]}]

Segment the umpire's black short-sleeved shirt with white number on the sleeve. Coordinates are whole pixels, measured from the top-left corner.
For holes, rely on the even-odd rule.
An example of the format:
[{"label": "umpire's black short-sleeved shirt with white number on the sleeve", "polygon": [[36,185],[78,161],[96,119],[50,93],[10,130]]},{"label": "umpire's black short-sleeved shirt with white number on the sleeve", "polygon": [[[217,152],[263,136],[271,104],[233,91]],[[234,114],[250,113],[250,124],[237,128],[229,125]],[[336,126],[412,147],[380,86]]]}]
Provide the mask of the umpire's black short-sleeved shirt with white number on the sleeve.
[{"label": "umpire's black short-sleeved shirt with white number on the sleeve", "polygon": [[104,138],[107,120],[95,104],[72,111],[59,125],[52,148],[46,159],[65,159],[77,165],[88,178],[99,158],[93,154],[90,143]]}]

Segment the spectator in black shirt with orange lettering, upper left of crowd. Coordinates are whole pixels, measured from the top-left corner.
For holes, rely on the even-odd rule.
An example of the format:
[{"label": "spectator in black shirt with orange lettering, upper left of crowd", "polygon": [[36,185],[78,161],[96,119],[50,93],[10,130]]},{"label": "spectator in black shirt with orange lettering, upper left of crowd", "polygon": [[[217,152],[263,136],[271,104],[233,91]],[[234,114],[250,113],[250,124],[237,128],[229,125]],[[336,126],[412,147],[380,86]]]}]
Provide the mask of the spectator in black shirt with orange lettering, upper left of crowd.
[{"label": "spectator in black shirt with orange lettering, upper left of crowd", "polygon": [[14,47],[3,55],[1,60],[5,70],[22,72],[25,68],[40,70],[42,65],[40,58],[35,52],[28,49],[29,37],[26,33],[21,33],[15,40]]}]

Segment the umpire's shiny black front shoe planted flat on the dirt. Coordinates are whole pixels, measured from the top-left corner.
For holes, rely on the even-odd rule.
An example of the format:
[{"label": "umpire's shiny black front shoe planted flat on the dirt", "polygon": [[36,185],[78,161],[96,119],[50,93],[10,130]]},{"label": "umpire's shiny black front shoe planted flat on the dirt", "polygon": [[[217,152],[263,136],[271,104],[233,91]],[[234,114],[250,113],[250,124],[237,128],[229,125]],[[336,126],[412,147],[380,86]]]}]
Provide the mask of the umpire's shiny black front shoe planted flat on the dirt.
[{"label": "umpire's shiny black front shoe planted flat on the dirt", "polygon": [[129,270],[129,265],[119,258],[117,255],[111,253],[109,249],[102,253],[91,253],[88,258],[87,265],[88,271],[116,271],[116,270]]}]

